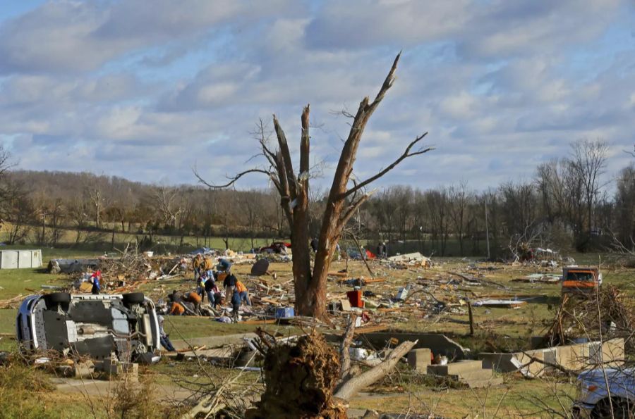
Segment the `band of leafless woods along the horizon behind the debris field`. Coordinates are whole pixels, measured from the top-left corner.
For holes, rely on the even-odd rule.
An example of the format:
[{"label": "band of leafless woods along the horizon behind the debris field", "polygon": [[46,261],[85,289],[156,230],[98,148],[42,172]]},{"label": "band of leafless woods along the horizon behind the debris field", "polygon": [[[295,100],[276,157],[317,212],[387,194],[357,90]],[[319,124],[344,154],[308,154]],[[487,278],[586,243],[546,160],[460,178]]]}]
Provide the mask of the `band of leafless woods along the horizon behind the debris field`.
[{"label": "band of leafless woods along the horizon behind the debris field", "polygon": [[[289,237],[273,190],[11,170],[11,156],[0,151],[1,239],[6,244],[81,246],[99,237],[114,245],[119,233],[137,234],[146,247],[157,235],[181,243],[185,237],[222,237],[226,244],[229,237]],[[484,192],[466,183],[427,190],[385,187],[351,219],[350,231],[364,242],[386,242],[391,253],[437,256],[485,256],[486,242],[492,257],[518,254],[528,246],[563,253],[618,243],[632,249],[635,166],[619,170],[611,181],[616,183],[609,184],[603,181],[606,158],[605,142],[579,141],[571,144],[568,156],[538,165],[533,179]],[[317,234],[325,192],[313,190],[311,198],[311,230]]]}]

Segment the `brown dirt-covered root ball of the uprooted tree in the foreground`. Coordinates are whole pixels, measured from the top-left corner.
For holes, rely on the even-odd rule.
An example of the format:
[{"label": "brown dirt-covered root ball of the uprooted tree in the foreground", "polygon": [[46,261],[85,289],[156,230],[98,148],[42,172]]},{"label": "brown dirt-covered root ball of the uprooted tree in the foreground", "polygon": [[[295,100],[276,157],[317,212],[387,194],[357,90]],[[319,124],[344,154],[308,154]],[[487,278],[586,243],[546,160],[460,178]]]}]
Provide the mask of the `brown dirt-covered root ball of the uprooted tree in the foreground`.
[{"label": "brown dirt-covered root ball of the uprooted tree in the foreground", "polygon": [[321,334],[313,331],[294,345],[267,351],[266,391],[247,418],[346,418],[346,406],[334,399],[339,356]]}]

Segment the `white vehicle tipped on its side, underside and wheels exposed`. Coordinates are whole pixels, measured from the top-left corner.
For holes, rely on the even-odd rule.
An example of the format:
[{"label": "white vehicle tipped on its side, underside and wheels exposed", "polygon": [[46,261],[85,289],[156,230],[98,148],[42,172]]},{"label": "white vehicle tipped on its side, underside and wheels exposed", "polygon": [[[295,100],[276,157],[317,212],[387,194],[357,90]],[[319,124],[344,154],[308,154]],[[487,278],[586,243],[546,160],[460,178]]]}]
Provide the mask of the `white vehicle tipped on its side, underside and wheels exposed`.
[{"label": "white vehicle tipped on its side, underside and wheels exposed", "polygon": [[94,359],[159,360],[155,304],[141,292],[28,296],[18,311],[16,332],[21,351],[54,349]]}]

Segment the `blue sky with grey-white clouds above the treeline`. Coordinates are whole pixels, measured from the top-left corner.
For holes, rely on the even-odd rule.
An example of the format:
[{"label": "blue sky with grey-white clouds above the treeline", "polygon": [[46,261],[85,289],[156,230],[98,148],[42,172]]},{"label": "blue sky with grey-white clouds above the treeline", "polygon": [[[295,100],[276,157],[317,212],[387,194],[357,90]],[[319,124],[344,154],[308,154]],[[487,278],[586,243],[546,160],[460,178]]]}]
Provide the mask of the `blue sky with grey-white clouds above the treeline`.
[{"label": "blue sky with grey-white clouds above the treeline", "polygon": [[576,139],[609,142],[613,173],[631,160],[626,0],[3,1],[0,142],[25,169],[222,180],[257,164],[258,118],[276,113],[296,149],[310,103],[313,158],[332,167],[337,112],[373,96],[401,49],[358,177],[425,131],[436,150],[381,185],[526,180]]}]

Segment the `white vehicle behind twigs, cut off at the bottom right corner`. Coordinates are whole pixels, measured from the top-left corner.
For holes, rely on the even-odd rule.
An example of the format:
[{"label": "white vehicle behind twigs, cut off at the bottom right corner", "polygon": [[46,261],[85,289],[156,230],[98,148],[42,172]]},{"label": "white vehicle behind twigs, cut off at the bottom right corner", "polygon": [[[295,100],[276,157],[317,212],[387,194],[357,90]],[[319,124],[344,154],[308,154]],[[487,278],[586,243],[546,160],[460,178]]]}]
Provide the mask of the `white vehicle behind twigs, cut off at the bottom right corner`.
[{"label": "white vehicle behind twigs, cut off at the bottom right corner", "polygon": [[635,369],[595,368],[581,373],[578,384],[578,396],[571,412],[574,418],[635,416]]}]

